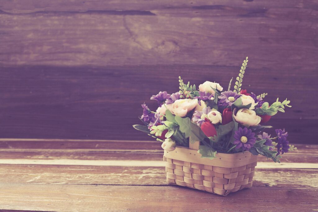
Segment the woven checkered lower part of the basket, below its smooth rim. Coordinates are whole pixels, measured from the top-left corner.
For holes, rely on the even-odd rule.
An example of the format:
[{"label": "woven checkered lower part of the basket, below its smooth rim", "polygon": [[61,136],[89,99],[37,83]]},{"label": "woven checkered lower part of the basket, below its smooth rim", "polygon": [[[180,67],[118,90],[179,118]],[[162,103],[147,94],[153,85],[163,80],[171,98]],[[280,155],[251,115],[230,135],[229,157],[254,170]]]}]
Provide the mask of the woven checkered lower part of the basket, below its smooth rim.
[{"label": "woven checkered lower part of the basket, below its smooth rim", "polygon": [[166,162],[167,182],[179,186],[228,195],[251,187],[256,162],[236,168],[223,168],[179,161],[163,156]]}]

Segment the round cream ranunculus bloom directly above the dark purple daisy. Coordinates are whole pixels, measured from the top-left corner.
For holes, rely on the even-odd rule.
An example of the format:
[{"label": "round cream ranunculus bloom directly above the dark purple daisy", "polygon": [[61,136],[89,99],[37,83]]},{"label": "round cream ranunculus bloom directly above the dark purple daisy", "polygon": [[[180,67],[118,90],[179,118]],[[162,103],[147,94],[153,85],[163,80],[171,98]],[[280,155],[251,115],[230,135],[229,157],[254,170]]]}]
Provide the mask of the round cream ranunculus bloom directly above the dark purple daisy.
[{"label": "round cream ranunculus bloom directly above the dark purple daisy", "polygon": [[[256,126],[259,124],[261,118],[256,115],[255,111],[246,108],[237,109],[233,111],[234,119],[240,124],[248,124],[249,126]],[[236,115],[234,115],[236,113]]]}]

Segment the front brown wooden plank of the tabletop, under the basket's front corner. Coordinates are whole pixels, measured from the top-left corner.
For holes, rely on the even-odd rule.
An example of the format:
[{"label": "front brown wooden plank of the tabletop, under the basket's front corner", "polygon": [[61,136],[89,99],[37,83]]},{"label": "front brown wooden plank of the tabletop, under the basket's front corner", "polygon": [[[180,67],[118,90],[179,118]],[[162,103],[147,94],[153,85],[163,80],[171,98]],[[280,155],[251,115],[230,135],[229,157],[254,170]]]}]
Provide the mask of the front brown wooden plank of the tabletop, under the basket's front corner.
[{"label": "front brown wooden plank of the tabletop, under the basket's front corner", "polygon": [[176,186],[0,183],[0,206],[51,211],[311,211],[317,209],[317,191],[250,188],[223,197]]}]

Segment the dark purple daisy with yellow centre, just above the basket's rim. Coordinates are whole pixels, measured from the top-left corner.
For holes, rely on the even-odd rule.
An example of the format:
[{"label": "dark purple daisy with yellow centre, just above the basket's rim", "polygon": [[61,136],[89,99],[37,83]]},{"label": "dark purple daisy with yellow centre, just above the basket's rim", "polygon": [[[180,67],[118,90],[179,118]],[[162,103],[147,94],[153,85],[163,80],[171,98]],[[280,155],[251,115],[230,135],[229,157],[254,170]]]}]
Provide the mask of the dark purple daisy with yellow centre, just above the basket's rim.
[{"label": "dark purple daisy with yellow centre, just above the basket's rim", "polygon": [[234,133],[234,144],[236,144],[235,149],[239,149],[242,147],[243,151],[249,150],[256,143],[256,138],[254,137],[255,133],[252,133],[251,129],[247,129],[247,127],[239,127],[238,131]]}]

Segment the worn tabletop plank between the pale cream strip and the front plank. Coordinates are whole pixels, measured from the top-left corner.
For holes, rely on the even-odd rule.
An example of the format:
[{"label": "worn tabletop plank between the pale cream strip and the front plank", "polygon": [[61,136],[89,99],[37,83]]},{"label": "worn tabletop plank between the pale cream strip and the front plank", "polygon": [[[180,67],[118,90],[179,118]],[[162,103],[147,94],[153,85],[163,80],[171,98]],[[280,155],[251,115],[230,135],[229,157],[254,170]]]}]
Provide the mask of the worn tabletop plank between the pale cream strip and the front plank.
[{"label": "worn tabletop plank between the pale cream strip and the front plank", "polygon": [[[164,167],[1,164],[0,179],[12,183],[167,185]],[[318,169],[258,168],[254,187],[317,188]]]}]

